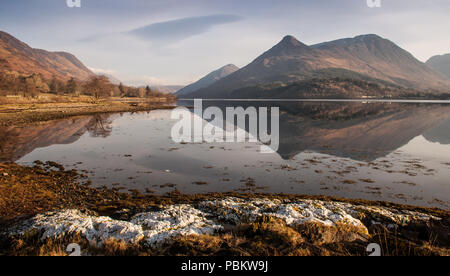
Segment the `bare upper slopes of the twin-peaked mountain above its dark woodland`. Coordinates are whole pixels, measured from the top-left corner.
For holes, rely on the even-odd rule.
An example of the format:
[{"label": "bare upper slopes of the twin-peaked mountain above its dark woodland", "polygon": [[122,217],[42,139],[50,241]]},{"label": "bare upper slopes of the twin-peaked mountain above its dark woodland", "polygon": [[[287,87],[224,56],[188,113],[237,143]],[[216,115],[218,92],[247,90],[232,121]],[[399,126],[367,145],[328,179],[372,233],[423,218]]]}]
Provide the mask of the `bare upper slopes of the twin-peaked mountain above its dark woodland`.
[{"label": "bare upper slopes of the twin-peaked mountain above its dark woodland", "polygon": [[312,46],[286,36],[246,67],[187,96],[239,98],[237,90],[255,87],[252,96],[258,97],[259,86],[270,90],[330,78],[431,92],[450,90],[450,82],[441,74],[393,42],[371,34]]}]

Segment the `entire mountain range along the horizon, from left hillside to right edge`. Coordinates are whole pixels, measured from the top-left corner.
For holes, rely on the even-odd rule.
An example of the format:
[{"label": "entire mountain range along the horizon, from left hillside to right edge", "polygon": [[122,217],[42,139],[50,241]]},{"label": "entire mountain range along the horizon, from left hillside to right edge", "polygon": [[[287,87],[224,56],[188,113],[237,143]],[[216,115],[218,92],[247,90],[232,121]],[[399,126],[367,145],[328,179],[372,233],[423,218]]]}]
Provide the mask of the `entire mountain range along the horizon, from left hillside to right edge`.
[{"label": "entire mountain range along the horizon, from left hillside to right edge", "polygon": [[[0,72],[81,81],[95,76],[70,53],[34,49],[1,31]],[[425,64],[373,34],[311,46],[286,36],[244,68],[230,64],[186,87],[152,88],[187,99],[445,96],[450,94],[450,54]]]}]

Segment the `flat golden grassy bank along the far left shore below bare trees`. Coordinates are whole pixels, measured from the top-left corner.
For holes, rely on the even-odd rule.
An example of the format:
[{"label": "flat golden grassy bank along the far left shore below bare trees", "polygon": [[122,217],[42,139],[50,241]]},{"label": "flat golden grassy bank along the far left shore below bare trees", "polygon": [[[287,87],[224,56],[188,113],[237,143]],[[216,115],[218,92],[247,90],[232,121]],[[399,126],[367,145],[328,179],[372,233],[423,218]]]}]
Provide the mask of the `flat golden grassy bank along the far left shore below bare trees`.
[{"label": "flat golden grassy bank along the far left shore below bare trees", "polygon": [[107,98],[51,96],[39,99],[0,97],[0,126],[20,125],[97,113],[171,109],[167,98]]}]

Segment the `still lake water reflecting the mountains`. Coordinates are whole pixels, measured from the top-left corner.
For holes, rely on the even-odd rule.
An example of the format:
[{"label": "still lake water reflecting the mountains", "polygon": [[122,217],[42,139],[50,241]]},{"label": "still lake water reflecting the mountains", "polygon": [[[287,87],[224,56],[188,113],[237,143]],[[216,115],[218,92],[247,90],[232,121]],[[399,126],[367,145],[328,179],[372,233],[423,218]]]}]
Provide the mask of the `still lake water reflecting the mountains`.
[{"label": "still lake water reflecting the mountains", "polygon": [[[180,102],[191,106],[192,102]],[[171,139],[170,110],[0,129],[0,161],[55,161],[92,186],[164,194],[329,195],[450,209],[450,105],[207,101],[280,107],[280,146]],[[233,122],[228,122],[233,123]]]}]

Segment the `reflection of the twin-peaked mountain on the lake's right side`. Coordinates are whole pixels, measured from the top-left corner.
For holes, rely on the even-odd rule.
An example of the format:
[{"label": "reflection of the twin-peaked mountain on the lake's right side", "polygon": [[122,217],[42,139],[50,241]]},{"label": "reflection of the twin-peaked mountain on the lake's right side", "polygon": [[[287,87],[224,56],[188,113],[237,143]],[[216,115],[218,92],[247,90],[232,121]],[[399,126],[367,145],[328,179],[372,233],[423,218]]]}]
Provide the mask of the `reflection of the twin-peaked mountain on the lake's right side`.
[{"label": "reflection of the twin-peaked mountain on the lake's right side", "polygon": [[[192,106],[193,102],[179,104]],[[210,106],[219,107],[224,114],[230,106],[280,107],[277,152],[286,160],[315,151],[373,161],[421,135],[432,142],[450,143],[450,106],[445,104],[203,101],[203,110]]]}]

